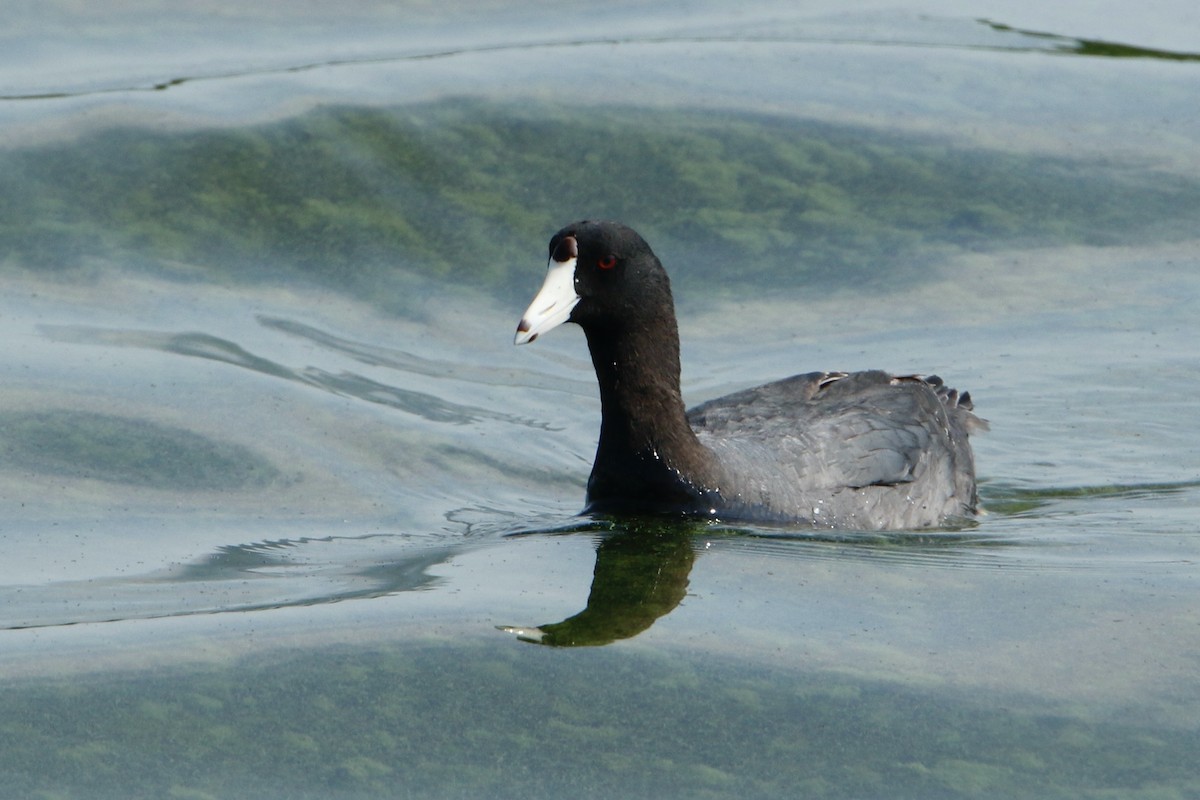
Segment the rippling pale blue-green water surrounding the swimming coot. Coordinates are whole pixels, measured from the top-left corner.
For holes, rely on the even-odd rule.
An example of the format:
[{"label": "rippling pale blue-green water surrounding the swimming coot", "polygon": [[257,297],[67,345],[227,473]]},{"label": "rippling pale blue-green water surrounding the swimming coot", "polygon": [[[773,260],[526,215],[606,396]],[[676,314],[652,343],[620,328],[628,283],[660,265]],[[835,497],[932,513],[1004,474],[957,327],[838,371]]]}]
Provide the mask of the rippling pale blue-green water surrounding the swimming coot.
[{"label": "rippling pale blue-green water surrounding the swimming coot", "polygon": [[[1189,5],[0,13],[6,796],[1200,796]],[[938,373],[989,513],[576,517],[593,213],[690,401]]]}]

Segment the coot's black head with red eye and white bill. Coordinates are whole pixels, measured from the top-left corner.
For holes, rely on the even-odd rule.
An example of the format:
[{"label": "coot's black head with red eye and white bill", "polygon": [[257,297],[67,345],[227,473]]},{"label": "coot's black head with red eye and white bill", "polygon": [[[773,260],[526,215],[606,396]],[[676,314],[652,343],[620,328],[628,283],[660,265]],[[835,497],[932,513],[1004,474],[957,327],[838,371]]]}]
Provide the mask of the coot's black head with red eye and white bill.
[{"label": "coot's black head with red eye and white bill", "polygon": [[664,314],[673,321],[671,282],[646,240],[619,222],[575,222],[550,240],[541,291],[517,326],[517,344],[571,321],[622,327]]}]

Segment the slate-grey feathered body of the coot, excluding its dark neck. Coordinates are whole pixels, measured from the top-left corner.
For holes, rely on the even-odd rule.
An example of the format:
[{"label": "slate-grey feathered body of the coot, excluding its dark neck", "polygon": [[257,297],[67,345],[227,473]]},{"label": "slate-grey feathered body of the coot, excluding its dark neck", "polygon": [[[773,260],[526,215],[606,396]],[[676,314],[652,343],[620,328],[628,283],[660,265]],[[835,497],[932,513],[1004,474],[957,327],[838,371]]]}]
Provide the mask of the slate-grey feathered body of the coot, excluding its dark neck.
[{"label": "slate-grey feathered body of the coot, excluding its dark neck", "polygon": [[698,405],[688,422],[738,518],[877,530],[976,510],[967,434],[983,422],[935,378],[808,373]]}]

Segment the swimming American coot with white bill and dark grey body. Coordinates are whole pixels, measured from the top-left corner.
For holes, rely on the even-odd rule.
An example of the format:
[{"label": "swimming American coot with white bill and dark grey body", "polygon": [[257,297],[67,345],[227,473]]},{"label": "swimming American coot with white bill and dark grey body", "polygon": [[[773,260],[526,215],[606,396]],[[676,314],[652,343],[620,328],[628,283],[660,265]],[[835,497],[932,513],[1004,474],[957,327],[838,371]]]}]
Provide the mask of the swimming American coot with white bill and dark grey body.
[{"label": "swimming American coot with white bill and dark grey body", "polygon": [[926,528],[977,513],[971,397],[937,378],[812,372],[684,410],[671,282],[614,222],[550,240],[533,342],[578,324],[600,381],[587,512],[683,513],[829,528]]}]

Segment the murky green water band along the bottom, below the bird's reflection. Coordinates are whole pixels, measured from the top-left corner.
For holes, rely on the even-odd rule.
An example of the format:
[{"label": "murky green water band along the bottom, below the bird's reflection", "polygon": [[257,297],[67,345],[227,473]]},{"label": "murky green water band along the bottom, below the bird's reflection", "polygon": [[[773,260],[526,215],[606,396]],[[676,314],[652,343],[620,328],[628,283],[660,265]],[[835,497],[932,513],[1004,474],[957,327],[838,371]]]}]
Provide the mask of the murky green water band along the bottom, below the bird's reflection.
[{"label": "murky green water band along the bottom, below the bird's reflection", "polygon": [[619,648],[326,648],[0,691],[14,798],[1124,798],[1196,730]]}]

